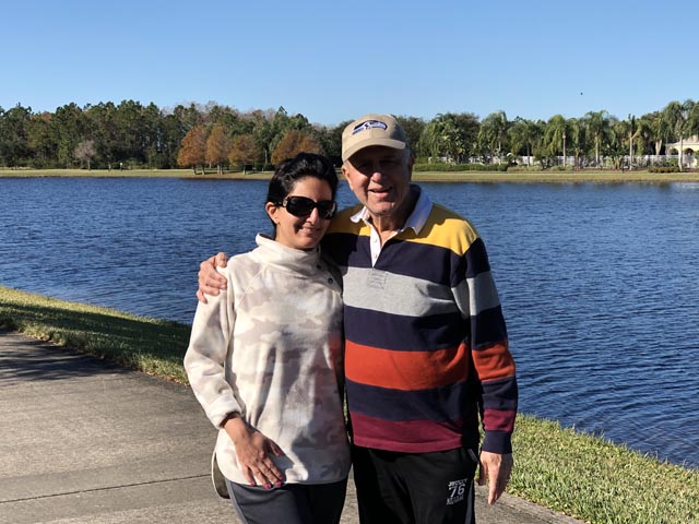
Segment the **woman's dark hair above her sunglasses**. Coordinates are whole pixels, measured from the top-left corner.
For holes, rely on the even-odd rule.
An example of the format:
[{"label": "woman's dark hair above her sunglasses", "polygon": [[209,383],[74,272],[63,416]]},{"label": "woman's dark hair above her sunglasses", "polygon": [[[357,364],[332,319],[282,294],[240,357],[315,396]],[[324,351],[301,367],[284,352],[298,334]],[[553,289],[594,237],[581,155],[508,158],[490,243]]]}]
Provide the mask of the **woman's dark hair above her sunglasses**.
[{"label": "woman's dark hair above her sunglasses", "polygon": [[280,204],[294,189],[294,184],[301,178],[312,177],[325,180],[330,184],[332,199],[337,192],[337,175],[332,163],[322,155],[315,153],[299,153],[294,158],[282,162],[270,180],[266,201]]}]

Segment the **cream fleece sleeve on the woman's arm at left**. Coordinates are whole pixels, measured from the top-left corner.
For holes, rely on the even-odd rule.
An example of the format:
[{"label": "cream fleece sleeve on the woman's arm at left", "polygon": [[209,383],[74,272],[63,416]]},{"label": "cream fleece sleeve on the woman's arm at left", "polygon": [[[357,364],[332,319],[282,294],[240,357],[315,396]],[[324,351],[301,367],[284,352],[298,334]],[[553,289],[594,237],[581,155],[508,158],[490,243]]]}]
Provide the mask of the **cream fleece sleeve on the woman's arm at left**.
[{"label": "cream fleece sleeve on the woman's arm at left", "polygon": [[230,279],[228,289],[217,297],[206,296],[208,303],[199,302],[189,347],[185,354],[185,370],[194,396],[204,408],[206,417],[216,428],[230,413],[241,413],[235,384],[226,381],[224,366],[228,352],[233,350],[232,336],[235,323]]}]

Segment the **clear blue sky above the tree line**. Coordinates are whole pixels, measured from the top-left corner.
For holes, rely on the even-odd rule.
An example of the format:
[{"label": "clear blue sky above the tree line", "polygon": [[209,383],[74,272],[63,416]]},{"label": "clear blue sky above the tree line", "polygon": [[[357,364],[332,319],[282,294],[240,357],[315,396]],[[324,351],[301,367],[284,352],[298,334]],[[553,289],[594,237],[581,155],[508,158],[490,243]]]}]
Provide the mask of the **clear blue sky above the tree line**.
[{"label": "clear blue sky above the tree line", "polygon": [[699,99],[696,0],[24,0],[0,13],[5,109],[215,102],[334,126],[374,111],[627,118]]}]

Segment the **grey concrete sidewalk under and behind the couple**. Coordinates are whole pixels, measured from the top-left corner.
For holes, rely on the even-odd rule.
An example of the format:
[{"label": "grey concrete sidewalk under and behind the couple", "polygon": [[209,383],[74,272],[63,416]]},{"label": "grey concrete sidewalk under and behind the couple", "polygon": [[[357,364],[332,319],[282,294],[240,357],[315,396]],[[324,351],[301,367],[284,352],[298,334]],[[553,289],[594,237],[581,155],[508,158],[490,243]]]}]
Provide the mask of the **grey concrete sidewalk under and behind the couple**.
[{"label": "grey concrete sidewalk under and behind the couple", "polygon": [[[0,331],[0,522],[232,523],[189,388]],[[350,483],[342,522],[357,523]],[[477,493],[479,524],[577,523]],[[283,524],[283,523],[279,523]]]}]

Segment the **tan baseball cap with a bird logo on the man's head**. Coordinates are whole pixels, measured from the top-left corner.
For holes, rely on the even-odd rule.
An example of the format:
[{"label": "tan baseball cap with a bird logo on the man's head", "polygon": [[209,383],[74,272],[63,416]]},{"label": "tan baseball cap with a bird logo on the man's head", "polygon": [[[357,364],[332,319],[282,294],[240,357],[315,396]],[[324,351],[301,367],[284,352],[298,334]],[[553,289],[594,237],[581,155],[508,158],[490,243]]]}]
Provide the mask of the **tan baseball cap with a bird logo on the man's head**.
[{"label": "tan baseball cap with a bird logo on the man's head", "polygon": [[407,146],[405,131],[390,115],[365,115],[342,132],[342,162],[370,145],[404,150]]}]

